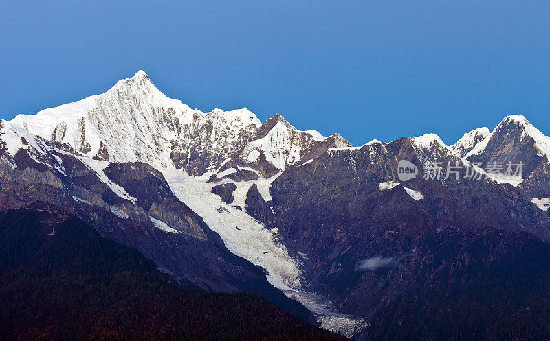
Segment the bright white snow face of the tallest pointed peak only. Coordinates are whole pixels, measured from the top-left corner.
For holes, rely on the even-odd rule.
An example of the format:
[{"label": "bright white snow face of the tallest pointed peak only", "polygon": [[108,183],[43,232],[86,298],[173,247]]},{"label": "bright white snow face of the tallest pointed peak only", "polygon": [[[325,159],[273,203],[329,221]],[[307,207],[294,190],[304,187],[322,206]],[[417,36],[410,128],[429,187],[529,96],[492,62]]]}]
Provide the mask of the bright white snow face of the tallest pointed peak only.
[{"label": "bright white snow face of the tallest pointed peak only", "polygon": [[[67,143],[87,156],[157,163],[169,159],[170,139],[175,138],[170,124],[177,117],[189,117],[191,111],[180,101],[164,96],[146,73],[139,71],[102,95],[36,115],[18,115],[12,124],[45,139]],[[101,155],[105,151],[108,156]]]}]

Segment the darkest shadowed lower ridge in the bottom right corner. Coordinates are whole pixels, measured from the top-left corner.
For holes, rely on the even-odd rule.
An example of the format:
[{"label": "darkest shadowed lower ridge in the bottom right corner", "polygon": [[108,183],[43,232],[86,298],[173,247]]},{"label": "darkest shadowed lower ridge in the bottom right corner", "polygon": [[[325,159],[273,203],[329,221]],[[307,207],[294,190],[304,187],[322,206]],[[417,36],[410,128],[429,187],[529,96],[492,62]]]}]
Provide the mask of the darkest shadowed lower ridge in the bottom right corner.
[{"label": "darkest shadowed lower ridge in the bottom right corner", "polygon": [[401,291],[373,316],[369,340],[547,338],[549,245],[527,233],[438,228],[399,266],[362,275]]}]

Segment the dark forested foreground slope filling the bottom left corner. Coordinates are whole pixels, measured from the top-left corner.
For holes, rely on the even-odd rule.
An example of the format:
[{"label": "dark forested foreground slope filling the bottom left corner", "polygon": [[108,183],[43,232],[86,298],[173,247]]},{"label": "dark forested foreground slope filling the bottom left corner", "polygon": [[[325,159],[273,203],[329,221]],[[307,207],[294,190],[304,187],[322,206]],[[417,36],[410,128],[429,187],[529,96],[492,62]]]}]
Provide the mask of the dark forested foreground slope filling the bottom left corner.
[{"label": "dark forested foreground slope filling the bottom left corner", "polygon": [[0,207],[0,340],[344,340],[254,294],[176,287],[58,207]]}]

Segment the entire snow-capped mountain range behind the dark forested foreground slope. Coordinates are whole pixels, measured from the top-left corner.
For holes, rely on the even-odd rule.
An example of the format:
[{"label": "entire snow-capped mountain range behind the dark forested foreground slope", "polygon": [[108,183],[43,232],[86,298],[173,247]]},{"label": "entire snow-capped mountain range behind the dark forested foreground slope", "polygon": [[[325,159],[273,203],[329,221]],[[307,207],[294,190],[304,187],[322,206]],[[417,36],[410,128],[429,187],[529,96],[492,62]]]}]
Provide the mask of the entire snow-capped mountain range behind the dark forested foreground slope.
[{"label": "entire snow-capped mountain range behind the dark forested foreground slope", "polygon": [[279,114],[203,113],[139,71],[1,120],[0,158],[1,193],[75,215],[188,290],[254,292],[358,340],[548,335],[550,137],[519,115],[450,146],[353,146]]}]

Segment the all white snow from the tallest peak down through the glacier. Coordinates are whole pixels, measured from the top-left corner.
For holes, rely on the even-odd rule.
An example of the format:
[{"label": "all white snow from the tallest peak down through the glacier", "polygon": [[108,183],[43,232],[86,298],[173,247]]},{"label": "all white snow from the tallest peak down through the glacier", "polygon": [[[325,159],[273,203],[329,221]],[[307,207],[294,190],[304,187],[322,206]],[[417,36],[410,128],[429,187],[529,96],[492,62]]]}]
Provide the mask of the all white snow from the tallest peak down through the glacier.
[{"label": "all white snow from the tallest peak down through the glacier", "polygon": [[[298,130],[278,114],[261,124],[246,108],[203,113],[166,97],[144,71],[120,80],[101,95],[36,115],[18,115],[11,122],[4,121],[3,130],[11,156],[25,147],[21,137],[27,137],[36,148],[40,148],[41,139],[63,143],[65,149],[68,145],[69,152],[94,169],[103,183],[131,202],[135,198],[112,183],[103,169],[112,162],[152,165],[164,173],[173,193],[221,236],[231,252],[265,268],[272,281],[292,290],[300,290],[305,284],[299,263],[289,256],[276,228],[266,228],[236,204],[245,207],[252,183],[270,201],[270,185],[281,170],[329,148],[351,146],[338,134],[323,137],[315,130]],[[216,172],[219,176],[236,172],[229,166],[222,169],[230,163],[263,175],[258,180],[236,182],[233,205],[211,192],[218,183],[207,181]],[[111,211],[123,219],[129,217],[118,207]],[[154,217],[151,221],[162,231],[176,231]],[[338,330],[338,323],[331,328]]]}]

